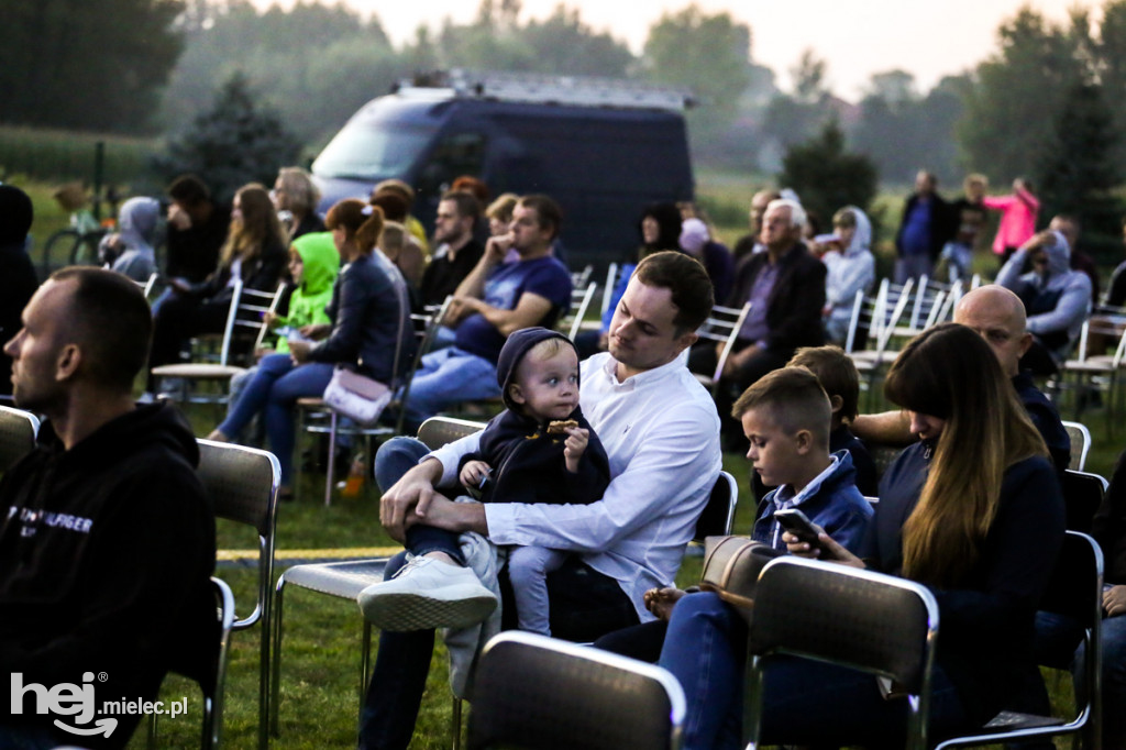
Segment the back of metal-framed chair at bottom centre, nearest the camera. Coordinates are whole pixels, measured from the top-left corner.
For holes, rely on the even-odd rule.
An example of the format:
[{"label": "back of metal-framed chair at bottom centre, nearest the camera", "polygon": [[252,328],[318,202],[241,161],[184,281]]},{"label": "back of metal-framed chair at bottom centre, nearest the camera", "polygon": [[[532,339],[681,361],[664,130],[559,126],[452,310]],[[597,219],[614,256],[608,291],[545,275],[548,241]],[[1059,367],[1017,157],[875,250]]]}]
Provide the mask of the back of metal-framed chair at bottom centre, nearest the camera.
[{"label": "back of metal-framed chair at bottom centre, nearest the camera", "polygon": [[508,632],[481,653],[468,747],[672,750],[685,712],[680,684],[660,667]]}]

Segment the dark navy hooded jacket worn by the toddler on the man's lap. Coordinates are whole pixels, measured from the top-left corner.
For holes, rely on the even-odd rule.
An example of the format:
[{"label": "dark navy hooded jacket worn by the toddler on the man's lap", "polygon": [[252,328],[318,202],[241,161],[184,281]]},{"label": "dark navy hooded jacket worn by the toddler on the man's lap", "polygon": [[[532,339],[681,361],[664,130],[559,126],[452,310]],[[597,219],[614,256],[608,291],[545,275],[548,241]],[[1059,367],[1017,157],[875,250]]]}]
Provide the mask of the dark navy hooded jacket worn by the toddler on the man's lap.
[{"label": "dark navy hooded jacket worn by the toddler on the man's lap", "polygon": [[483,461],[492,468],[481,491],[482,502],[549,502],[587,505],[601,500],[610,483],[610,459],[601,440],[575,407],[569,419],[590,431],[587,449],[574,474],[566,470],[563,456],[565,435],[548,435],[547,425],[522,414],[519,404],[509,399],[508,386],[528,351],[542,341],[557,338],[571,340],[545,328],[525,328],[508,337],[497,363],[507,410],[489,421],[481,432],[475,453],[462,457],[461,466],[470,461]]}]

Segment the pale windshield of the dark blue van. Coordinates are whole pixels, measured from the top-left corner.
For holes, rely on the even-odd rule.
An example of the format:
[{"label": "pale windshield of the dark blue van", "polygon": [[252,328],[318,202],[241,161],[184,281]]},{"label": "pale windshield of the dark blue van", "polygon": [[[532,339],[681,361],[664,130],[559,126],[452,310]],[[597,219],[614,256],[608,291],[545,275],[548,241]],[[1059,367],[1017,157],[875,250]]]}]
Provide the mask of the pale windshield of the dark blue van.
[{"label": "pale windshield of the dark blue van", "polygon": [[399,177],[418,160],[437,127],[386,120],[354,120],[313,162],[323,178],[376,180]]}]

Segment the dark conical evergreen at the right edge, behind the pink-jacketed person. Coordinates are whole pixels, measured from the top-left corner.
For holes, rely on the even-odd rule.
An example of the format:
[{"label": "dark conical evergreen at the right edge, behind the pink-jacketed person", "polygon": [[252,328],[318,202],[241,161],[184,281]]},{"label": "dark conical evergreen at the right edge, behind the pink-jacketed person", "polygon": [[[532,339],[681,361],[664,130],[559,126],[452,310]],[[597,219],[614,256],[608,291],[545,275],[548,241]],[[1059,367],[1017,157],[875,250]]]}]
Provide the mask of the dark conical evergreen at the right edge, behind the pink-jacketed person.
[{"label": "dark conical evergreen at the right edge, behind the pink-jacketed person", "polygon": [[1083,225],[1082,244],[1110,261],[1121,252],[1120,137],[1099,87],[1073,87],[1056,119],[1052,149],[1038,173],[1043,217],[1066,213]]}]

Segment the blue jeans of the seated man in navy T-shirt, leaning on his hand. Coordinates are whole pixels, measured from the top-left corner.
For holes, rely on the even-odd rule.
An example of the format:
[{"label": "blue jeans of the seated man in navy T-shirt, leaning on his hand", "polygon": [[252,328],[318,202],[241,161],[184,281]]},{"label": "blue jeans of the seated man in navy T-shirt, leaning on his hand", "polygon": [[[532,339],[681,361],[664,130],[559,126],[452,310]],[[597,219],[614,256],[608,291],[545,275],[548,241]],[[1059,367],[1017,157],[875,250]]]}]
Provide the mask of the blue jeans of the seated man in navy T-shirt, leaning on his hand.
[{"label": "blue jeans of the seated man in navy T-shirt, leaning on his hand", "polygon": [[406,422],[410,428],[417,429],[455,403],[499,395],[497,365],[493,363],[457,347],[431,351],[422,357],[422,364],[411,381],[411,394],[405,405]]}]

